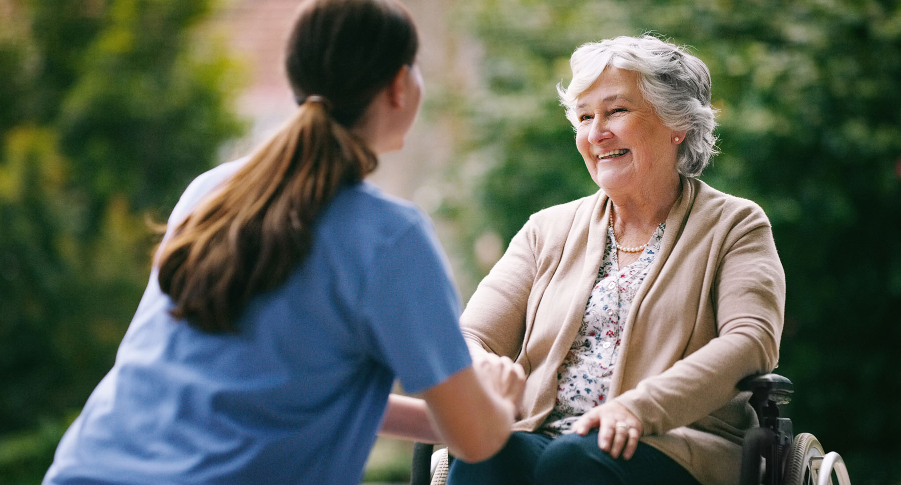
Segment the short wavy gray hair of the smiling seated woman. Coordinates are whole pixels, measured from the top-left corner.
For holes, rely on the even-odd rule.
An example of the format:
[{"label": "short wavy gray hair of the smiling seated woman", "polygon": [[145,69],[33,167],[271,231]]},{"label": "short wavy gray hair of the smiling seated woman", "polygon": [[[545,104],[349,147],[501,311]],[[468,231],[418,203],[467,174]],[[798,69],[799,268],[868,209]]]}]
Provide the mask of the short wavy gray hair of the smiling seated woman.
[{"label": "short wavy gray hair of the smiling seated woman", "polygon": [[594,84],[607,66],[633,70],[639,74],[638,87],[654,113],[670,129],[685,131],[679,145],[677,168],[687,177],[696,177],[718,153],[714,117],[710,104],[710,70],[686,48],[652,35],[615,37],[578,47],[569,58],[572,80],[568,87],[557,85],[560,104],[574,126],[578,96]]}]

